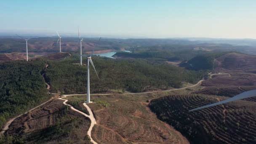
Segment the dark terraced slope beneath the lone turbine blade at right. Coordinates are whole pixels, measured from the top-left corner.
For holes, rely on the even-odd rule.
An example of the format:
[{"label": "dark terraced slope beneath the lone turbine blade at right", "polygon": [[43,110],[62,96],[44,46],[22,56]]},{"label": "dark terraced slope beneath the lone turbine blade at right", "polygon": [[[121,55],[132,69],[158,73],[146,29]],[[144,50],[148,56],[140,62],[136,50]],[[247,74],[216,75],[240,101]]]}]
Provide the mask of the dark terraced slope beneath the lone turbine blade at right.
[{"label": "dark terraced slope beneath the lone turbine blade at right", "polygon": [[255,144],[255,102],[237,101],[188,112],[220,100],[220,97],[173,95],[154,99],[149,107],[192,144]]}]

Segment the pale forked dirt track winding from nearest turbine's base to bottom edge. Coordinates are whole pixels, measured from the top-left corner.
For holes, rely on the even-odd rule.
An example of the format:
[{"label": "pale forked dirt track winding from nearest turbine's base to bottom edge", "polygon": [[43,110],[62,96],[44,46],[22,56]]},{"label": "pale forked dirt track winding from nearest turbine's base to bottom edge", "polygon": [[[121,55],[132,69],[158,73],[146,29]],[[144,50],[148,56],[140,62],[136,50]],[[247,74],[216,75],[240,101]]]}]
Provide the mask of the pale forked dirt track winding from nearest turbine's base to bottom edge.
[{"label": "pale forked dirt track winding from nearest turbine's base to bottom edge", "polygon": [[89,128],[87,134],[88,134],[88,136],[90,137],[91,142],[92,142],[93,144],[98,144],[98,143],[96,143],[96,141],[94,141],[94,140],[92,139],[92,137],[91,137],[91,131],[92,131],[92,129],[93,129],[93,126],[96,124],[96,120],[95,120],[95,118],[94,118],[94,116],[93,116],[93,112],[91,111],[90,107],[88,107],[88,105],[86,105],[85,103],[83,104],[83,105],[86,107],[86,109],[88,110],[89,114],[90,114],[90,115],[86,115],[84,112],[81,112],[81,111],[75,109],[72,105],[67,104],[67,101],[68,101],[68,100],[67,100],[67,99],[63,99],[63,98],[65,98],[65,97],[67,97],[67,96],[64,96],[64,97],[59,98],[59,99],[61,99],[61,100],[64,100],[64,101],[63,101],[63,104],[68,105],[72,110],[74,110],[74,111],[76,111],[76,112],[79,112],[80,114],[84,115],[85,117],[88,117],[88,118],[91,120],[91,125],[90,125],[90,128]]}]

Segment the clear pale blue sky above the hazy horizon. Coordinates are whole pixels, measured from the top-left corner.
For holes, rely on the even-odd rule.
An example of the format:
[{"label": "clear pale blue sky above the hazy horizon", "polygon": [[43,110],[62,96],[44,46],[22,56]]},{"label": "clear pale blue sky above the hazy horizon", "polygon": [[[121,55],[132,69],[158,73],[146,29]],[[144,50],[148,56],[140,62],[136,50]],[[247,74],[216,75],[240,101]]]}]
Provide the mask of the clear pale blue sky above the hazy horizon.
[{"label": "clear pale blue sky above the hazy horizon", "polygon": [[0,33],[256,39],[256,0],[0,0]]}]

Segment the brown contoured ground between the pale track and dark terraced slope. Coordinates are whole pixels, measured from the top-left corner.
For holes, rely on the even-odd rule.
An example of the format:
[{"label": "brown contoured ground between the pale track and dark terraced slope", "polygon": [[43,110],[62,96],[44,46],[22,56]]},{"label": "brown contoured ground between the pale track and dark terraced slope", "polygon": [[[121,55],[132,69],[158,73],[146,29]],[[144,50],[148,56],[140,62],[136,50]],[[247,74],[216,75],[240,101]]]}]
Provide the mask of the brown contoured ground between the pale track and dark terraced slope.
[{"label": "brown contoured ground between the pale track and dark terraced slope", "polygon": [[[181,133],[158,120],[144,101],[129,96],[99,96],[108,107],[88,104],[97,124],[93,139],[100,144],[187,144]],[[129,99],[131,98],[131,99]]]}]

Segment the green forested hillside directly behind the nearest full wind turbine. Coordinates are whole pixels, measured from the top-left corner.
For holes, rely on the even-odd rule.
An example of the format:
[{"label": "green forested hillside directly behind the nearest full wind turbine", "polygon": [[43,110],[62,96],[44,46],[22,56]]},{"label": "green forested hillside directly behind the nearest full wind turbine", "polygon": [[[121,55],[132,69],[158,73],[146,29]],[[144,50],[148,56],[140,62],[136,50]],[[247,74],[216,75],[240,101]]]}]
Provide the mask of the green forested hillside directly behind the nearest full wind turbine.
[{"label": "green forested hillside directly behind the nearest full wind turbine", "polygon": [[[49,61],[45,77],[53,93],[86,92],[87,67],[73,64],[77,61],[79,58],[75,56],[63,61]],[[188,71],[143,59],[103,59],[94,56],[93,63],[100,78],[98,80],[95,72],[90,69],[90,86],[93,93],[111,89],[142,92],[155,88],[180,88],[182,82],[196,83],[206,74],[205,71]]]}]

